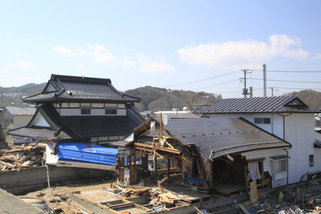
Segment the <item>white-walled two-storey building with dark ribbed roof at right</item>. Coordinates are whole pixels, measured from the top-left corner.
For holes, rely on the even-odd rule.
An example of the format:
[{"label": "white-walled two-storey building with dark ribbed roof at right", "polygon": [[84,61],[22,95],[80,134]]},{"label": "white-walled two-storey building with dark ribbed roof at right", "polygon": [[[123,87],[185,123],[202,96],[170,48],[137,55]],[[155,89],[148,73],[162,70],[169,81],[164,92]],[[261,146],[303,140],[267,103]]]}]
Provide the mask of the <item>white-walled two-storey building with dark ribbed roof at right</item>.
[{"label": "white-walled two-storey building with dark ribbed roof at right", "polygon": [[321,171],[321,146],[316,141],[314,120],[320,110],[310,108],[296,96],[228,98],[194,113],[214,121],[243,118],[290,143],[292,147],[284,150],[241,153],[258,160],[259,168],[269,172],[272,188],[307,180],[309,174]]}]

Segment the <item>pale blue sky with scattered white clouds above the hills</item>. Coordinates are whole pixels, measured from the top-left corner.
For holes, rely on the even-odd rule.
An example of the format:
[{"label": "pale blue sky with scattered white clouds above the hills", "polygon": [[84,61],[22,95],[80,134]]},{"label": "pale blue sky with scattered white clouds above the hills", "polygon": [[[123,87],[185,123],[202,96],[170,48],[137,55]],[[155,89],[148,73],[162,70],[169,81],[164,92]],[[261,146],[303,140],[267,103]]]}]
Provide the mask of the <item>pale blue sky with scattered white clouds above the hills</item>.
[{"label": "pale blue sky with scattered white clouds above the hills", "polygon": [[[2,1],[0,86],[51,73],[243,97],[321,91],[321,1]],[[281,72],[282,71],[282,72]],[[285,72],[286,71],[286,72]]]}]

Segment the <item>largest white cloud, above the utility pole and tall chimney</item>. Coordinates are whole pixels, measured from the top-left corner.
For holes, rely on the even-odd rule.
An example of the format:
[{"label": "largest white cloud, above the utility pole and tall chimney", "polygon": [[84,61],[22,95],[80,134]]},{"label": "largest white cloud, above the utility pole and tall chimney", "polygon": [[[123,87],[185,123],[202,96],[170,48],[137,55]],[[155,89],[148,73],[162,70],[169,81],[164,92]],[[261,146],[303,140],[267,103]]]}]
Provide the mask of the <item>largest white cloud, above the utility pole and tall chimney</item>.
[{"label": "largest white cloud, above the utility pole and tall chimney", "polygon": [[210,67],[234,68],[249,64],[261,64],[276,56],[303,59],[309,53],[298,49],[300,39],[291,39],[287,35],[272,35],[269,43],[248,39],[245,41],[227,41],[223,44],[200,44],[186,46],[176,52],[180,61],[191,64],[205,64]]}]

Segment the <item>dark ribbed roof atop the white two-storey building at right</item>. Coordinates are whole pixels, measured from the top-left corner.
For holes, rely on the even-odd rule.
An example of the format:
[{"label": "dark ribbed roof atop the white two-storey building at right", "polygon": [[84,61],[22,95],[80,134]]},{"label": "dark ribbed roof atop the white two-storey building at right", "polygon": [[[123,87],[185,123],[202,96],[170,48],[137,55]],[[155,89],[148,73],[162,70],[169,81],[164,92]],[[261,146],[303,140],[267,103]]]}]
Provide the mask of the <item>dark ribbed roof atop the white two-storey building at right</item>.
[{"label": "dark ribbed roof atop the white two-storey building at right", "polygon": [[310,108],[296,96],[271,96],[256,98],[222,99],[208,108],[197,109],[193,113],[320,113]]}]

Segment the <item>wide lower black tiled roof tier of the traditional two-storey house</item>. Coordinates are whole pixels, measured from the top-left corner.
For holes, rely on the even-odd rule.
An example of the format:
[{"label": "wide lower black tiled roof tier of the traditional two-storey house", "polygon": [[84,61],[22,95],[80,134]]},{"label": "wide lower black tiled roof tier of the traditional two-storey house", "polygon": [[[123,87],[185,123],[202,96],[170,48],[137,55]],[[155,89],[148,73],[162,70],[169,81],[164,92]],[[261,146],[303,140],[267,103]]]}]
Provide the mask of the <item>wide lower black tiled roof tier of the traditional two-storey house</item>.
[{"label": "wide lower black tiled roof tier of the traditional two-storey house", "polygon": [[12,136],[35,138],[43,141],[69,141],[83,138],[106,136],[126,136],[144,118],[136,108],[126,106],[126,116],[59,116],[50,103],[39,106],[37,113],[49,123],[50,128],[33,126],[34,118],[24,128],[16,128],[8,133]]}]

